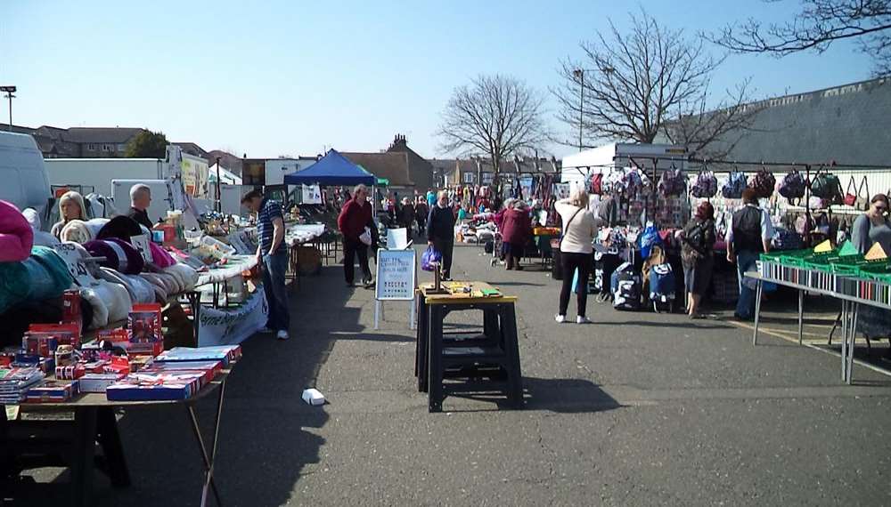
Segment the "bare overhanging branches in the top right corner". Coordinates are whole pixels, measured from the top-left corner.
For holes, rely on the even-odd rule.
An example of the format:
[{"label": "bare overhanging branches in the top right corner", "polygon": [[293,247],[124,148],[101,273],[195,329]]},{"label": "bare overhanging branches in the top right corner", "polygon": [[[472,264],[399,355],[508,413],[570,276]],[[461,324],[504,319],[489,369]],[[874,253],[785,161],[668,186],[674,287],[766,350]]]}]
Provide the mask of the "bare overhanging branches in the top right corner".
[{"label": "bare overhanging branches in the top right corner", "polygon": [[[774,3],[779,0],[764,0]],[[800,0],[794,20],[764,26],[749,18],[707,37],[734,52],[826,51],[835,41],[855,38],[875,59],[877,76],[891,74],[891,0]]]}]

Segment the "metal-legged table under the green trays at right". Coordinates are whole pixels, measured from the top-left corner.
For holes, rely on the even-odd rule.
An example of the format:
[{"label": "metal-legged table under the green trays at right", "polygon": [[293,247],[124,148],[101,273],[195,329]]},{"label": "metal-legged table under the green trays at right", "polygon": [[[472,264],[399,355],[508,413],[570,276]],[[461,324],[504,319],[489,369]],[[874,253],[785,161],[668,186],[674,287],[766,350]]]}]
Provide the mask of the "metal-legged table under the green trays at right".
[{"label": "metal-legged table under the green trays at right", "polygon": [[[762,265],[764,266],[764,263]],[[756,280],[755,330],[752,335],[752,344],[757,345],[758,343],[758,325],[761,317],[761,296],[764,292],[764,282],[778,286],[787,286],[797,290],[799,344],[803,342],[804,336],[805,292],[838,299],[842,302],[840,318],[842,330],[841,378],[843,382],[850,384],[854,378],[854,342],[857,334],[857,317],[860,305],[865,304],[884,310],[891,309],[891,305],[888,302],[879,301],[883,298],[874,297],[875,294],[888,294],[889,286],[876,281],[858,280],[852,277],[818,270],[807,270],[805,268],[782,266],[782,270],[786,273],[783,277],[785,279],[768,277],[766,274],[757,271],[751,271],[745,275]]]}]

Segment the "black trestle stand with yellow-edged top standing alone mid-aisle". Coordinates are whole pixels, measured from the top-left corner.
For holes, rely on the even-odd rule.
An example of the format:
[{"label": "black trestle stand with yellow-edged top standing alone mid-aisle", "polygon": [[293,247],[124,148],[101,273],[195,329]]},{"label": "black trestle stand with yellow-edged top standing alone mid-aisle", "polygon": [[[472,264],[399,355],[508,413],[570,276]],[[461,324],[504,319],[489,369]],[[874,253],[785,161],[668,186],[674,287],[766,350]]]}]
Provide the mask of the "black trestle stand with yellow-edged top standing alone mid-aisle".
[{"label": "black trestle stand with yellow-edged top standing alone mid-aisle", "polygon": [[[464,292],[463,287],[469,290]],[[441,412],[448,394],[492,390],[503,390],[511,405],[521,408],[517,298],[504,296],[485,282],[450,282],[446,293],[421,286],[416,294],[419,322],[414,370],[418,390],[428,393],[429,412]],[[446,315],[462,310],[482,310],[482,335],[444,334]],[[447,383],[446,378],[466,380]]]}]

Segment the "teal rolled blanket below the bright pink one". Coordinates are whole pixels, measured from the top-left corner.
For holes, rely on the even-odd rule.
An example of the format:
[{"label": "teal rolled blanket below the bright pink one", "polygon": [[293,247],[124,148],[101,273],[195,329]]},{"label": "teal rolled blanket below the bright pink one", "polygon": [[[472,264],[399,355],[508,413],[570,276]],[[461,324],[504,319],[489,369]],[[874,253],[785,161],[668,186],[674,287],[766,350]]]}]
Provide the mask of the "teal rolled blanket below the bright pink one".
[{"label": "teal rolled blanket below the bright pink one", "polygon": [[58,297],[72,283],[59,254],[52,248],[34,246],[31,256],[22,262],[0,262],[0,313],[20,302]]}]

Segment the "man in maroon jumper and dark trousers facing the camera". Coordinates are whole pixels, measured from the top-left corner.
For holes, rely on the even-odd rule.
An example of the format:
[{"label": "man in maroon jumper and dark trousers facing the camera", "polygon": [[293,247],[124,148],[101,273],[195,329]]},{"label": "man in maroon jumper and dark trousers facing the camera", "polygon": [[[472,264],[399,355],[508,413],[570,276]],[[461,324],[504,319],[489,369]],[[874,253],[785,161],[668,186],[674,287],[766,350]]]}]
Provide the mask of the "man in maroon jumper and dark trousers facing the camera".
[{"label": "man in maroon jumper and dark trousers facing the camera", "polygon": [[366,288],[372,286],[372,270],[368,268],[368,246],[371,241],[366,243],[363,237],[366,227],[371,236],[373,223],[372,205],[368,202],[368,188],[356,185],[353,198],[347,201],[337,217],[338,229],[343,234],[343,274],[348,287],[353,286],[356,257],[359,258],[359,267],[362,269],[363,286]]}]

